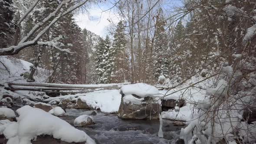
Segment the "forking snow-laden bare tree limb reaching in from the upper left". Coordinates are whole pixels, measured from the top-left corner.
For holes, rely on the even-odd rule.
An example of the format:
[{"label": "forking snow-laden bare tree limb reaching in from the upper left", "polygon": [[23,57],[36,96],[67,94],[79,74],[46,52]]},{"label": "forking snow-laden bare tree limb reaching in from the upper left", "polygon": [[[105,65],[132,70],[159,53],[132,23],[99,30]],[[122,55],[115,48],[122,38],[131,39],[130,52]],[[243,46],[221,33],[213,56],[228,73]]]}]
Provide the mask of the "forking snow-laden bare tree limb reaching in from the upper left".
[{"label": "forking snow-laden bare tree limb reaching in from the upper left", "polygon": [[[30,32],[20,40],[17,46],[10,46],[8,48],[2,48],[0,49],[0,56],[7,56],[7,55],[15,55],[20,52],[20,50],[29,47],[29,46],[35,46],[35,45],[44,45],[44,46],[53,46],[56,49],[59,49],[61,51],[69,52],[68,49],[60,49],[59,46],[64,46],[62,43],[56,42],[56,40],[48,41],[48,42],[38,42],[39,39],[56,23],[61,17],[65,16],[67,13],[72,12],[73,10],[81,7],[89,0],[64,0],[62,3],[59,4],[59,6],[49,14],[45,19],[43,19],[41,22],[36,23],[36,25],[30,30]],[[22,16],[20,21],[18,23],[21,23],[25,17],[33,10],[33,8],[36,6],[38,1],[36,1]],[[71,7],[69,7],[71,6]],[[69,7],[69,8],[68,8]],[[53,18],[54,17],[54,18]],[[50,21],[50,23],[49,23]],[[43,30],[38,31],[42,26],[46,25],[46,23],[49,23]],[[39,32],[36,36],[34,34],[36,32]],[[33,40],[28,41],[34,37]],[[17,42],[16,42],[17,43]],[[14,43],[14,45],[16,45]]]}]

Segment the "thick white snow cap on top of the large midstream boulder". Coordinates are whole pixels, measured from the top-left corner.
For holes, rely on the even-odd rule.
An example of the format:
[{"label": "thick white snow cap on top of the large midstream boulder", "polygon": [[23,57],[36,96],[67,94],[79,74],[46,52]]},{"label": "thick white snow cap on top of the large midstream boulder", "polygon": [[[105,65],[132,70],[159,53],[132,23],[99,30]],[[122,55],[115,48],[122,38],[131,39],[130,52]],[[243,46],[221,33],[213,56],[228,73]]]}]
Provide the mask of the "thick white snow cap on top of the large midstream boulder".
[{"label": "thick white snow cap on top of the large midstream boulder", "polygon": [[159,97],[159,91],[158,88],[144,84],[144,83],[137,83],[132,85],[124,85],[121,88],[121,91],[125,95],[138,95],[139,97]]}]

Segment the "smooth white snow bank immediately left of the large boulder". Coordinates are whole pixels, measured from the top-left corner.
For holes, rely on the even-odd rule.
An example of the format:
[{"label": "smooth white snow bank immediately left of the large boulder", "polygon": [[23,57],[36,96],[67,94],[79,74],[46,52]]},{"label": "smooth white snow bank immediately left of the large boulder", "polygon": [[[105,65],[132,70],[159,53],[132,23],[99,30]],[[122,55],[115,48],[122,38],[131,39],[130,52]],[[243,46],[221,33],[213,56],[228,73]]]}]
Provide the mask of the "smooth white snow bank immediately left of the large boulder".
[{"label": "smooth white snow bank immediately left of the large boulder", "polygon": [[117,112],[121,103],[119,90],[101,90],[89,92],[79,96],[82,101],[92,108],[98,109],[105,113]]}]

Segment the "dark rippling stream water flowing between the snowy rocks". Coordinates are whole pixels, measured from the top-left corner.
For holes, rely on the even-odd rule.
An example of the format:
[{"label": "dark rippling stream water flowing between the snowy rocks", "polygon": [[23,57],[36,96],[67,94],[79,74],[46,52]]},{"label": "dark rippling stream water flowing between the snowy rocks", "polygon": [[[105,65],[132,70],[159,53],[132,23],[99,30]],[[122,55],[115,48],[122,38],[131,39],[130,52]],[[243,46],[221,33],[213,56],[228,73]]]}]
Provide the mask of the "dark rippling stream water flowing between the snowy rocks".
[{"label": "dark rippling stream water flowing between the snowy rocks", "polygon": [[[80,115],[88,115],[91,111],[71,109],[67,115],[60,117],[73,124]],[[78,129],[85,131],[98,144],[175,144],[182,127],[174,126],[172,121],[163,120],[164,138],[157,137],[159,121],[127,121],[116,114],[97,112],[92,116],[94,125]]]}]

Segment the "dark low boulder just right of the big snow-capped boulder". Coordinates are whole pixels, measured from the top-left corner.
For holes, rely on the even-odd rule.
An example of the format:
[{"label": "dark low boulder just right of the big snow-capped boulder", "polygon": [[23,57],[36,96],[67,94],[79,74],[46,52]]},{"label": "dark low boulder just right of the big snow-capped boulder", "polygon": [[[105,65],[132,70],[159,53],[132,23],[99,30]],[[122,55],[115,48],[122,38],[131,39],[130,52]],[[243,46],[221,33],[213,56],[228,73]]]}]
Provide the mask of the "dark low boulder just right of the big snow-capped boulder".
[{"label": "dark low boulder just right of the big snow-capped boulder", "polygon": [[169,109],[174,109],[175,106],[183,107],[185,105],[184,99],[164,99],[161,102],[162,111],[168,111]]}]

